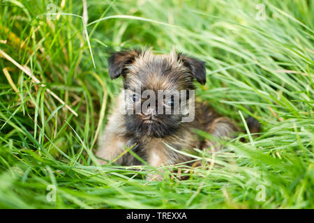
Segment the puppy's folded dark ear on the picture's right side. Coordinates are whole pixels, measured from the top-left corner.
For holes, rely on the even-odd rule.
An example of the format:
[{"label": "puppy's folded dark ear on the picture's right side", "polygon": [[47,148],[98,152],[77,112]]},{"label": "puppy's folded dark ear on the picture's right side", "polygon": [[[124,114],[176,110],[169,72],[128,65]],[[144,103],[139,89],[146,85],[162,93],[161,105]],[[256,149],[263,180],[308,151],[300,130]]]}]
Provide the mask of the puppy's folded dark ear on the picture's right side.
[{"label": "puppy's folded dark ear on the picture's right side", "polygon": [[197,82],[200,82],[200,84],[206,83],[206,68],[204,61],[200,61],[199,59],[195,59],[181,53],[178,54],[178,59],[181,60],[184,66],[190,70]]}]

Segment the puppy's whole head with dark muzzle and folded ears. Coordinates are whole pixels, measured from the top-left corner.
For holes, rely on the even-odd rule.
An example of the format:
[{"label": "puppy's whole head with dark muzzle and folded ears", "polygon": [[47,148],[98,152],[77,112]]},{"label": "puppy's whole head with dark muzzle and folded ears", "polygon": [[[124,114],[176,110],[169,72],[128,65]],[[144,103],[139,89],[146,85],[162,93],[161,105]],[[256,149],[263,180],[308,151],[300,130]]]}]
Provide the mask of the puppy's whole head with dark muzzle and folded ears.
[{"label": "puppy's whole head with dark muzzle and folded ears", "polygon": [[195,89],[193,79],[206,82],[203,61],[175,52],[116,52],[108,62],[112,79],[124,77],[126,129],[137,137],[166,137],[176,132],[186,115],[179,103],[182,98],[189,100],[188,90]]}]

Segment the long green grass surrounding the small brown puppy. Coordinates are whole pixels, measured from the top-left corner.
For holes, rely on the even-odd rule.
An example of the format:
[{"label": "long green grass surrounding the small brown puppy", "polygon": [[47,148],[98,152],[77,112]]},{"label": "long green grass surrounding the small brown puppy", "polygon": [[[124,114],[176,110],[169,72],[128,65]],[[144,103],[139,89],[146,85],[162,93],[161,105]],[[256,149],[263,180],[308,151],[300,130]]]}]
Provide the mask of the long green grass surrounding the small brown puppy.
[{"label": "long green grass surrounding the small brown puppy", "polygon": [[[61,2],[57,12],[82,16],[82,1]],[[258,3],[265,20],[255,18]],[[45,1],[1,4],[0,49],[45,84],[0,58],[1,208],[314,208],[314,1],[94,0],[87,26],[68,14],[47,20]],[[96,164],[122,83],[110,80],[107,58],[142,46],[206,61],[197,95],[247,142],[226,142],[215,155],[195,149],[203,167],[164,167],[162,182],[145,180],[153,167]],[[261,134],[245,131],[248,115]],[[57,201],[47,201],[47,185]]]}]

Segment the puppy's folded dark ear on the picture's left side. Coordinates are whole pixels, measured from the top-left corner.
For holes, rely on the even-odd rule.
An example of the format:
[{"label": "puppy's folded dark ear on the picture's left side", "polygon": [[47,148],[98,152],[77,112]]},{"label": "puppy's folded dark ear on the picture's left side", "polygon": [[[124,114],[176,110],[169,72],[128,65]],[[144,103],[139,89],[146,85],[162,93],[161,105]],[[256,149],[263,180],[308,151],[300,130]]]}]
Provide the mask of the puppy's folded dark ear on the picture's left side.
[{"label": "puppy's folded dark ear on the picture's left side", "polygon": [[140,50],[133,49],[130,51],[114,52],[108,59],[108,72],[111,79],[116,79],[124,71],[126,66],[133,63],[135,58],[140,55]]}]

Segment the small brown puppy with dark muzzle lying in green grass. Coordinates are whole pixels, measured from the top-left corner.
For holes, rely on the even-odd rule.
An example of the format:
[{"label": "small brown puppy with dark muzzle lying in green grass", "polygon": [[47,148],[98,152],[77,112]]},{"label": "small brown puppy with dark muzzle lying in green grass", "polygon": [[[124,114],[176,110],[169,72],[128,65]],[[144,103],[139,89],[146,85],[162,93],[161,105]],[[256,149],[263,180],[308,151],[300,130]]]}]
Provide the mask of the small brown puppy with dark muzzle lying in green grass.
[{"label": "small brown puppy with dark muzzle lying in green grass", "polygon": [[[112,79],[124,77],[124,89],[109,118],[105,131],[100,137],[96,155],[104,160],[113,160],[125,151],[125,146],[135,146],[135,153],[149,164],[160,167],[164,164],[176,164],[189,160],[189,157],[174,152],[168,144],[177,150],[208,148],[211,141],[197,137],[193,129],[197,128],[215,137],[231,137],[237,127],[225,117],[220,117],[204,103],[195,102],[193,79],[200,84],[206,82],[206,70],[203,61],[184,54],[154,55],[150,50],[131,50],[116,52],[109,59],[109,74]],[[170,109],[170,114],[160,113],[159,107],[148,105],[143,108],[147,97],[136,89],[149,90],[158,94],[163,90],[165,97],[158,97],[156,103]],[[184,91],[181,90],[192,90]],[[186,107],[179,107],[174,112],[174,92],[179,92],[179,102],[188,102]],[[151,98],[153,98],[150,95]],[[183,98],[182,98],[183,97]],[[150,98],[150,99],[151,99]],[[154,98],[153,101],[154,102]],[[193,101],[195,106],[190,104]],[[158,107],[158,109],[157,109]],[[178,108],[178,106],[177,106]],[[186,112],[188,111],[188,112]],[[189,116],[188,121],[184,117]],[[218,148],[218,146],[215,146]],[[118,160],[118,164],[133,165],[140,162],[128,153]],[[100,163],[106,163],[100,160]]]}]

